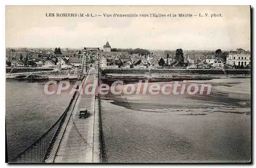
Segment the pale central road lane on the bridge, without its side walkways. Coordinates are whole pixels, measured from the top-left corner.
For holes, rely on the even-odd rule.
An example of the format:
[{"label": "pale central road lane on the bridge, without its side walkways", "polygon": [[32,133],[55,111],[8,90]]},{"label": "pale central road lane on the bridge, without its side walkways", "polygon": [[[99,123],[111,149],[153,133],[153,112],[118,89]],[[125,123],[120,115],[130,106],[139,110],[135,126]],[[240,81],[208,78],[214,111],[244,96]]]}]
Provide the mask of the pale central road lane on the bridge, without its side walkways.
[{"label": "pale central road lane on the bridge, without its side walkways", "polygon": [[[89,70],[83,87],[94,82],[95,73],[94,68]],[[81,108],[91,110],[93,96],[94,94],[79,94],[53,162],[92,162],[93,115],[86,119],[79,118],[79,110]]]}]

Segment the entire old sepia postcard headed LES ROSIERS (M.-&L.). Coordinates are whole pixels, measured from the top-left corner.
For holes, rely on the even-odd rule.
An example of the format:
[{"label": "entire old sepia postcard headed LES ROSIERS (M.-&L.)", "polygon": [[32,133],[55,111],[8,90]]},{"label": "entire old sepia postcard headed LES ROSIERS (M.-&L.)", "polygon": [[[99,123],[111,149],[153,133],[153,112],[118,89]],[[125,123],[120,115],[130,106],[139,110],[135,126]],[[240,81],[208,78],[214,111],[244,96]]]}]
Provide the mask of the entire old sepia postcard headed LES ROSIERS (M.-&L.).
[{"label": "entire old sepia postcard headed LES ROSIERS (M.-&L.)", "polygon": [[6,6],[8,162],[250,162],[250,16]]}]

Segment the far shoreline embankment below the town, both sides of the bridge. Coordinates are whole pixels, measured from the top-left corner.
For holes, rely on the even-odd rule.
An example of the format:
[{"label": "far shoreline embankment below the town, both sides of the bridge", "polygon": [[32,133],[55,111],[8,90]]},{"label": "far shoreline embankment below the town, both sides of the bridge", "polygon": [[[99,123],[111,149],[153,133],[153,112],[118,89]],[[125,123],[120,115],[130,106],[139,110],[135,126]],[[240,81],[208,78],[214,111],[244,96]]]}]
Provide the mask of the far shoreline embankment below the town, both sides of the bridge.
[{"label": "far shoreline embankment below the town, both sides of the bridge", "polygon": [[[18,69],[18,68],[17,68]],[[68,74],[72,80],[79,78],[81,69],[59,69],[50,68],[19,68],[19,70],[31,70],[23,73],[6,73],[6,80],[17,80],[18,76],[38,75],[48,77],[48,80],[63,80]],[[33,71],[32,71],[33,69]],[[44,70],[42,70],[44,69]],[[40,70],[40,71],[39,71]],[[102,68],[101,80],[114,82],[122,80],[127,83],[138,82],[139,80],[148,82],[170,82],[184,80],[212,80],[251,78],[250,69],[136,69],[136,68]]]}]

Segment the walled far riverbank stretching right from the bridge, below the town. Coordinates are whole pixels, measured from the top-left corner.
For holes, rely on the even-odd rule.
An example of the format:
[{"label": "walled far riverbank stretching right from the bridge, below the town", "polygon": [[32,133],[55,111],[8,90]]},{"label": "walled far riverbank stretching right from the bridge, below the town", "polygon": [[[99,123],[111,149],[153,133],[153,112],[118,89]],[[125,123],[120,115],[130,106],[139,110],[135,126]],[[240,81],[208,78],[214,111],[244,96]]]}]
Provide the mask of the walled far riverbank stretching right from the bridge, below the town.
[{"label": "walled far riverbank stretching right from the bridge, below the town", "polygon": [[170,82],[183,80],[211,80],[223,78],[250,78],[250,69],[146,69],[102,68],[103,82]]}]

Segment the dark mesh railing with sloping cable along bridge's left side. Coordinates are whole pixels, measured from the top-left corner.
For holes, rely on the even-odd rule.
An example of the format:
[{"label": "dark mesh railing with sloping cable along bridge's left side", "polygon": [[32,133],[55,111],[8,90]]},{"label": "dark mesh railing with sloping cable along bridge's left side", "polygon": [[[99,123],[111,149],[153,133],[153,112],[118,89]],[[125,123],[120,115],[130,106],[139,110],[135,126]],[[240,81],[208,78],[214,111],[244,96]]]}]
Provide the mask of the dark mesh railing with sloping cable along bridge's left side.
[{"label": "dark mesh railing with sloping cable along bridge's left side", "polygon": [[73,97],[63,114],[58,118],[57,122],[42,136],[40,136],[32,145],[30,145],[22,153],[18,154],[10,162],[18,163],[41,163],[45,162],[47,155],[49,154],[51,147],[54,143],[58,132],[61,129],[63,122],[67,116],[67,113],[76,97],[77,92],[73,94]]}]

